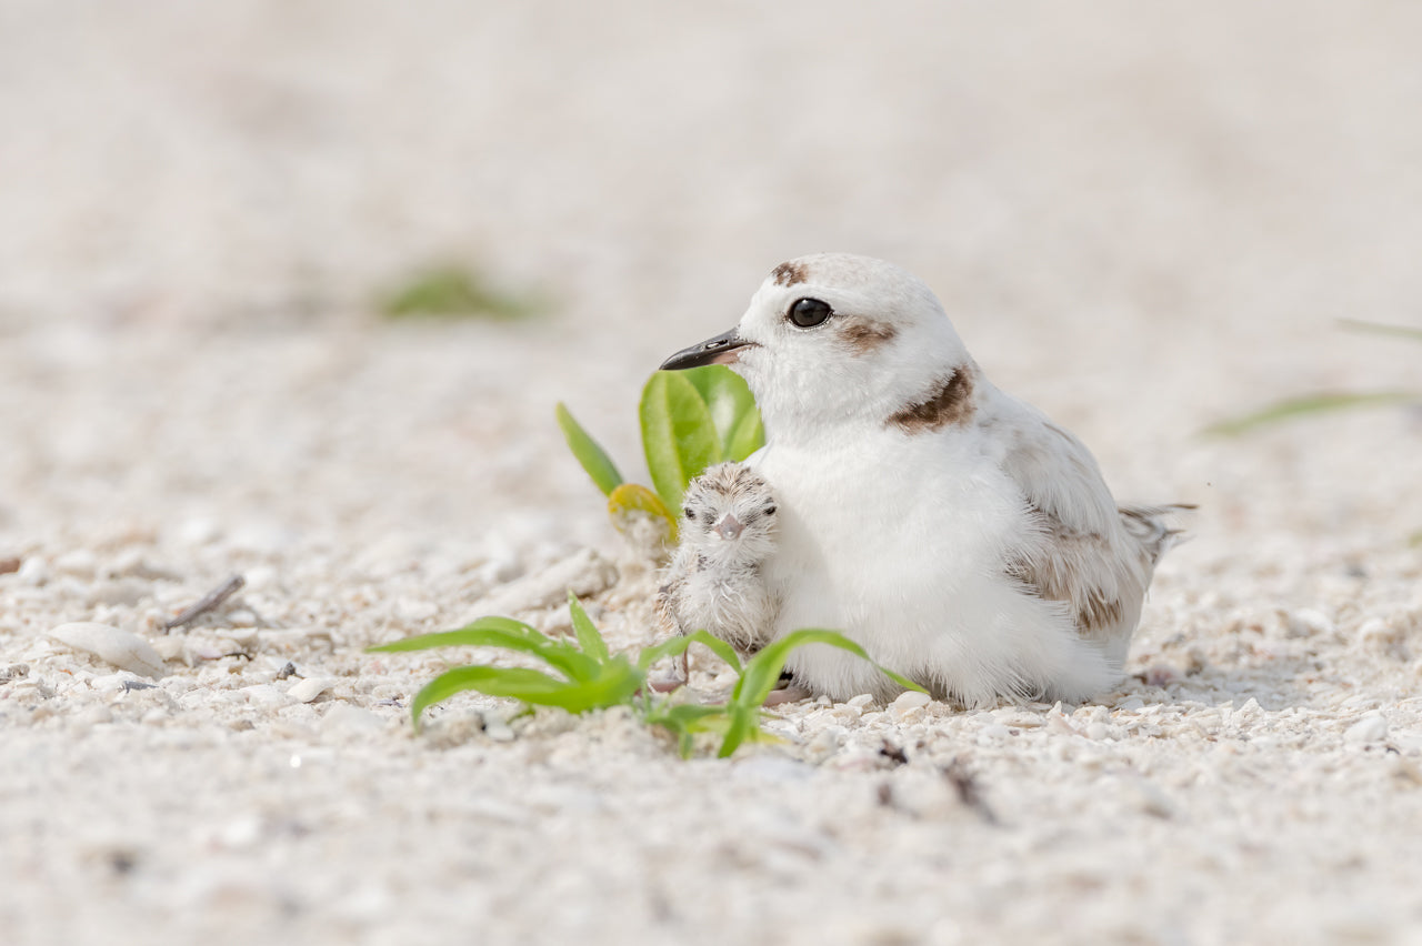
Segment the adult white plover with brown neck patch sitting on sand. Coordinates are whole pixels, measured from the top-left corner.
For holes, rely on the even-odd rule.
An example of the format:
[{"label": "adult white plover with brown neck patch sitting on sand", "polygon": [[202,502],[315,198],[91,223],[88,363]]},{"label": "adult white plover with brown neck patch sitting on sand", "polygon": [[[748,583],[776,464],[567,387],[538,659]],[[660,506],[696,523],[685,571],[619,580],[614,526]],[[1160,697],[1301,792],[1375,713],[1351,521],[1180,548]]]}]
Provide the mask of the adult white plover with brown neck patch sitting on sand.
[{"label": "adult white plover with brown neck patch sitting on sand", "polygon": [[[1116,506],[1091,452],[988,382],[924,283],[826,253],[775,267],[731,331],[663,369],[731,365],[775,490],[774,636],[833,628],[941,699],[1078,702],[1121,676],[1177,506]],[[815,693],[890,696],[828,646]]]}]

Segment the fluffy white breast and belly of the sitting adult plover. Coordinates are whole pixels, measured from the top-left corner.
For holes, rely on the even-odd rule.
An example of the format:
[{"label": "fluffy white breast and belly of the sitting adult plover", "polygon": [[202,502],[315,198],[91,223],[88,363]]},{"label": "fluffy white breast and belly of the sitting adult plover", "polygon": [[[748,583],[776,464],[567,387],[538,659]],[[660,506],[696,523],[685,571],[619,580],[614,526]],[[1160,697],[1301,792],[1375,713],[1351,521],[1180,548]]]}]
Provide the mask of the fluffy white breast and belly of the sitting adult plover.
[{"label": "fluffy white breast and belly of the sitting adult plover", "polygon": [[[1012,482],[953,433],[860,436],[853,449],[771,446],[754,457],[779,501],[765,564],[781,598],[776,635],[830,628],[882,665],[970,705],[1001,696],[1081,699],[1109,682],[1059,604],[1004,572],[1034,540]],[[791,672],[848,699],[896,687],[826,646],[798,651]]]}]

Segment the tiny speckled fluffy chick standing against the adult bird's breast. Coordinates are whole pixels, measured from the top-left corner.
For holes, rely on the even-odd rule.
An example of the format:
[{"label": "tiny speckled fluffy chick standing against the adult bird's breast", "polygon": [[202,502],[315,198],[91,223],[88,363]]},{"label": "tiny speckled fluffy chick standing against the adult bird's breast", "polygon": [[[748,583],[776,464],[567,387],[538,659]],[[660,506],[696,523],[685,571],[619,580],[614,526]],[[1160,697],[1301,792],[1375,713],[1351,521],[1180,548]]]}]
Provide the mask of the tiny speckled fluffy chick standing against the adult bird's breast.
[{"label": "tiny speckled fluffy chick standing against the adult bird's breast", "polygon": [[742,653],[759,649],[775,626],[761,570],[775,550],[769,484],[744,463],[718,463],[691,480],[681,509],[677,553],[657,592],[658,622],[674,634],[705,629]]}]

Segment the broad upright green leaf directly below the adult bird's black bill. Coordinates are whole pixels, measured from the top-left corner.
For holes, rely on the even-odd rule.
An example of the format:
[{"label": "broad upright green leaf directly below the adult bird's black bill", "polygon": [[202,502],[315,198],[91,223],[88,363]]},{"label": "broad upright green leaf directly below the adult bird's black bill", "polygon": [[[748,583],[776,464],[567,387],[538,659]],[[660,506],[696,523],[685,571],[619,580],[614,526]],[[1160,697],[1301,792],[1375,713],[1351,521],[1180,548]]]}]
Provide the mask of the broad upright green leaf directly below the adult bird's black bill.
[{"label": "broad upright green leaf directly below the adult bird's black bill", "polygon": [[667,509],[681,509],[687,483],[721,462],[711,409],[681,371],[658,371],[641,392],[641,446]]}]

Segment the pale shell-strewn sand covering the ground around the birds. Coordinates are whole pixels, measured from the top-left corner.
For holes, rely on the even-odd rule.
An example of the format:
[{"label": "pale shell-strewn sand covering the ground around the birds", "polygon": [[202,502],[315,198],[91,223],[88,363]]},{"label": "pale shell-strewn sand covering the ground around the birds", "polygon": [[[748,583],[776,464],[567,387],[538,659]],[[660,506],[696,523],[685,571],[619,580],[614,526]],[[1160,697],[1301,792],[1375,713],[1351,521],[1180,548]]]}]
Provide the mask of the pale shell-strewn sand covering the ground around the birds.
[{"label": "pale shell-strewn sand covering the ground around the birds", "polygon": [[[1422,7],[472,6],[0,3],[0,940],[1422,939],[1422,423],[1197,436],[1419,384],[1334,320],[1422,312]],[[644,476],[650,369],[823,249],[1200,503],[1138,676],[729,763],[476,697],[412,737],[441,658],[363,646],[617,554],[553,402]],[[557,304],[371,314],[441,259]]]}]

